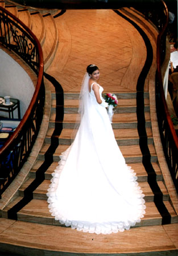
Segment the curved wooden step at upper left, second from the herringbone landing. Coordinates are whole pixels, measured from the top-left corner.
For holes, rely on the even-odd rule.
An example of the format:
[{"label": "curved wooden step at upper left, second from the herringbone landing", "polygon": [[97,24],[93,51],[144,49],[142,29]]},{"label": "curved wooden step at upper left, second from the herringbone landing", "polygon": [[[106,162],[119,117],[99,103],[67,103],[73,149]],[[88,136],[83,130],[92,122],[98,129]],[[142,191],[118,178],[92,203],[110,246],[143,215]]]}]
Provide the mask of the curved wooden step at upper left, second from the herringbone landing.
[{"label": "curved wooden step at upper left, second from the herringbone landing", "polygon": [[41,46],[43,46],[45,40],[45,26],[42,14],[40,14],[39,11],[35,11],[30,13],[30,15],[32,22],[31,30],[36,35],[36,38],[38,38]]}]

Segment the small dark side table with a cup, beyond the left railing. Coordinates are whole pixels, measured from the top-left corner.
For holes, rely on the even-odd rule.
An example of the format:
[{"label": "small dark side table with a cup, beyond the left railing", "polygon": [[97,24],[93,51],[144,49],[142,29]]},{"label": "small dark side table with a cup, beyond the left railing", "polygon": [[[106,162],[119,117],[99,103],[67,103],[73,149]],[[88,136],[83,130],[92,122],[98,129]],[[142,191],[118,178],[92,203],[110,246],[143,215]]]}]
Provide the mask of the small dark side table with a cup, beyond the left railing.
[{"label": "small dark side table with a cup, beyond the left railing", "polygon": [[[1,99],[3,97],[0,96]],[[16,98],[10,98],[10,105],[6,105],[4,100],[0,101],[0,111],[9,113],[9,118],[14,118],[14,110],[18,109],[18,118],[20,119],[20,102]]]}]

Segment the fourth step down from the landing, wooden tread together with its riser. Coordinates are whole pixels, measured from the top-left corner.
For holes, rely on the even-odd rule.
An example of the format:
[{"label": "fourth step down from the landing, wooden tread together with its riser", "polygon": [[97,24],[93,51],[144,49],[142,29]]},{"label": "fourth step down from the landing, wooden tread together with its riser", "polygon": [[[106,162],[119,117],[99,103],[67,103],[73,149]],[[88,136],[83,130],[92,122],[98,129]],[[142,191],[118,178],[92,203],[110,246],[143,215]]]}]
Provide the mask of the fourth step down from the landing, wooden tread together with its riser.
[{"label": "fourth step down from the landing, wooden tread together with its riser", "polygon": [[[52,137],[53,131],[54,131],[53,128],[48,128],[47,134],[45,136],[45,143],[51,143],[51,137]],[[115,139],[119,146],[139,144],[139,135],[138,135],[137,129],[114,129],[113,131],[114,131]],[[63,129],[61,131],[61,134],[58,137],[59,144],[70,145],[72,133],[73,133],[72,129]],[[148,138],[148,144],[152,144],[153,138],[152,138],[152,130],[150,127],[146,128],[146,133]]]}]

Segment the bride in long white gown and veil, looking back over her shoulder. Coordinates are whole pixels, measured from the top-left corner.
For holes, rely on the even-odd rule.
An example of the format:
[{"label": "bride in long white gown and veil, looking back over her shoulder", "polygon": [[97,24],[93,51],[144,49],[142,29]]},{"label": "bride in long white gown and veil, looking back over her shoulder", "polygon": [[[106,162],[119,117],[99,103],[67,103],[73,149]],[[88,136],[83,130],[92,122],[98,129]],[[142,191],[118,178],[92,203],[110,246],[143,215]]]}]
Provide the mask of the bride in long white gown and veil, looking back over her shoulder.
[{"label": "bride in long white gown and veil, looking back over her shoulder", "polygon": [[114,138],[98,84],[96,65],[86,69],[80,93],[80,125],[60,156],[48,189],[55,220],[72,229],[110,234],[130,229],[143,218],[144,195]]}]

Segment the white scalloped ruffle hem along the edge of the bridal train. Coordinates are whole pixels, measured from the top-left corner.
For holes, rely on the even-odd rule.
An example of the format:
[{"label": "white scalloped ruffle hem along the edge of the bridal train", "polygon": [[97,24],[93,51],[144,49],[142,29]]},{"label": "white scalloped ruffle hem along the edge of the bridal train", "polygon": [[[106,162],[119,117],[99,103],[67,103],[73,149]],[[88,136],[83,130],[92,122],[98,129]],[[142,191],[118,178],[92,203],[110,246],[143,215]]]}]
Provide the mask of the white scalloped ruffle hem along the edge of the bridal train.
[{"label": "white scalloped ruffle hem along the edge of the bridal train", "polygon": [[140,200],[140,204],[137,207],[137,216],[133,220],[127,221],[118,221],[118,222],[85,222],[85,221],[72,221],[61,216],[58,209],[55,207],[55,191],[58,185],[58,180],[60,177],[60,173],[63,170],[65,160],[69,154],[70,147],[60,155],[59,166],[56,167],[55,171],[52,174],[51,184],[49,185],[47,197],[48,197],[48,208],[51,215],[55,217],[55,220],[59,221],[60,224],[64,224],[65,226],[71,226],[72,229],[77,229],[82,232],[96,233],[96,234],[111,234],[123,232],[124,230],[129,230],[131,226],[135,226],[136,223],[141,221],[141,218],[144,217],[145,209],[145,200],[143,199],[144,194],[141,188],[138,185],[137,177],[133,169],[130,166],[127,166],[127,170],[131,173],[131,181],[134,183],[134,190],[137,193],[137,199]]}]

